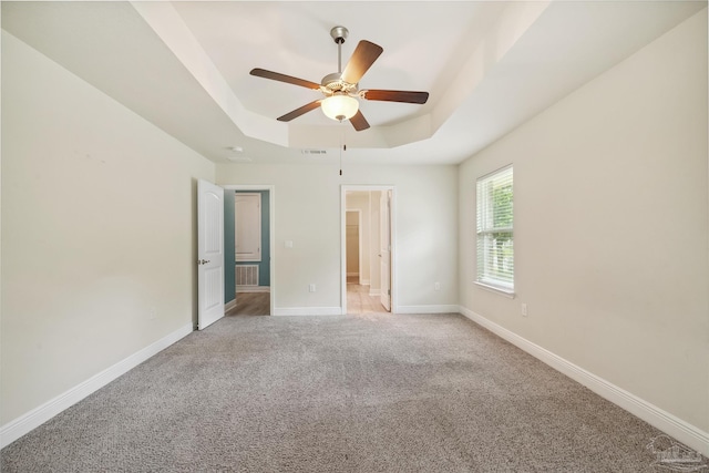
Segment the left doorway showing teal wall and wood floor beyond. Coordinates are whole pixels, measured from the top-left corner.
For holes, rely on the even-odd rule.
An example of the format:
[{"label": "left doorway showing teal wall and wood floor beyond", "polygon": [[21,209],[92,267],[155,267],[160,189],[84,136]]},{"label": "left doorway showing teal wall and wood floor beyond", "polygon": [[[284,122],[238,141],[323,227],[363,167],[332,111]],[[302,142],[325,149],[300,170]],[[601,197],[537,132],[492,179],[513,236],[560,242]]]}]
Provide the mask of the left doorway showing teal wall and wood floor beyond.
[{"label": "left doorway showing teal wall and wood floor beyond", "polygon": [[[227,316],[273,315],[276,297],[274,187],[225,185],[225,301]],[[230,208],[226,202],[230,199]],[[229,228],[230,226],[230,228]],[[229,232],[230,229],[230,232]]]}]

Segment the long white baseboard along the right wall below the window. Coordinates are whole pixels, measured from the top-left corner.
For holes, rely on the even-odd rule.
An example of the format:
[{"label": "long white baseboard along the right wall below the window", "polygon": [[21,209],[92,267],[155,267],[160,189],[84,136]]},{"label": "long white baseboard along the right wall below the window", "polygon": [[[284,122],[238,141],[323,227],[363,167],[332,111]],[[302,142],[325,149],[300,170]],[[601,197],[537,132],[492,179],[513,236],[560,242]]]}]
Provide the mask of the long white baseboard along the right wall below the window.
[{"label": "long white baseboard along the right wall below the window", "polygon": [[697,450],[703,455],[709,455],[709,433],[701,429],[682,421],[681,419],[670,414],[667,411],[654,405],[637,395],[619,388],[603,378],[590,373],[583,368],[572,363],[571,361],[540,347],[530,340],[520,337],[513,331],[499,326],[497,323],[473,312],[470,309],[460,307],[460,313],[467,317],[472,321],[483,326],[493,333],[507,340],[510,343],[521,348],[533,357],[545,362],[549,367],[566,374],[574,381],[579,382],[586,388],[594,391],[602,398],[607,399],[614,404],[625,409],[631,414],[643,419],[650,425],[661,430],[687,446]]}]

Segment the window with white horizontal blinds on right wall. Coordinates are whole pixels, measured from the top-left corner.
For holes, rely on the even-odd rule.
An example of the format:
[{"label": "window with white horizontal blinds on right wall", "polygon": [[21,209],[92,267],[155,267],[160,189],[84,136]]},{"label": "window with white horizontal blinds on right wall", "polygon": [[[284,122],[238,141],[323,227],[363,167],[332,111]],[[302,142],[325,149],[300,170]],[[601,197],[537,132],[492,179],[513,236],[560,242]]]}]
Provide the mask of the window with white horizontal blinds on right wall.
[{"label": "window with white horizontal blinds on right wall", "polygon": [[514,290],[512,165],[477,179],[477,278]]}]

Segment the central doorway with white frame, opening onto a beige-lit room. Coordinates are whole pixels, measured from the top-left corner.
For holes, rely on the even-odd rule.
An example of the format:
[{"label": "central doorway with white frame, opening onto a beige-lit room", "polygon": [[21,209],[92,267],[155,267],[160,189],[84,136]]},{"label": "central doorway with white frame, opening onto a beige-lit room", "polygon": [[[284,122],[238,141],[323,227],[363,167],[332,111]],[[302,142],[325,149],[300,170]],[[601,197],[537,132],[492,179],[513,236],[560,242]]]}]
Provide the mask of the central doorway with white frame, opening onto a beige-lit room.
[{"label": "central doorway with white frame, opening onto a beige-lit room", "polygon": [[341,187],[343,315],[395,311],[393,196],[392,186]]}]

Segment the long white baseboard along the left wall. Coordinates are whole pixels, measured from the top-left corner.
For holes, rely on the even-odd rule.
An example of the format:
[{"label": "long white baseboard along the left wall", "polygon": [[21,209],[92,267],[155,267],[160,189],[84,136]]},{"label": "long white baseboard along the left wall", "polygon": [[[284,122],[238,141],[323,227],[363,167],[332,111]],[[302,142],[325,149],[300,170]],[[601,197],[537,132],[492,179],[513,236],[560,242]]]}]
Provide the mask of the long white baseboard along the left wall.
[{"label": "long white baseboard along the left wall", "polygon": [[30,412],[19,417],[18,419],[2,425],[0,428],[0,449],[4,449],[10,443],[29,433],[33,429],[40,426],[63,410],[74,405],[76,402],[103,388],[111,381],[126,373],[152,356],[158,353],[179,339],[192,333],[192,331],[193,326],[192,322],[189,322],[186,326],[175,330],[174,332],[161,338],[154,343],[151,343],[142,350],[131,354],[129,358],[119,361],[114,366],[101,371],[97,374],[94,374],[86,381],[45,402],[39,408],[35,408]]}]

